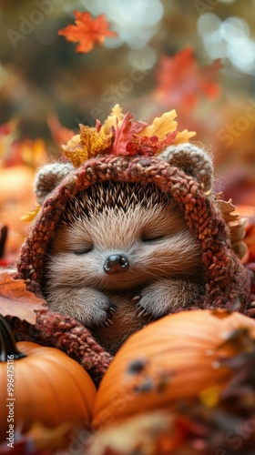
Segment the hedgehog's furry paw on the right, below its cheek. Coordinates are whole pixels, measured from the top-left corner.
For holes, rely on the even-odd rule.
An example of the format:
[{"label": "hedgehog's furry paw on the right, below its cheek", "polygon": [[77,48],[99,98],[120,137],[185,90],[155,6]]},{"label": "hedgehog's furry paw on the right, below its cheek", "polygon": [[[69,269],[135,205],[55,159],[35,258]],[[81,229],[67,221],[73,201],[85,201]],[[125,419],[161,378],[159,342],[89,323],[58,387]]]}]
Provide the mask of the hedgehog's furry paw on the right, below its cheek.
[{"label": "hedgehog's furry paw on the right, below its cheek", "polygon": [[191,306],[203,293],[203,287],[185,279],[160,279],[141,291],[138,315],[158,319]]}]

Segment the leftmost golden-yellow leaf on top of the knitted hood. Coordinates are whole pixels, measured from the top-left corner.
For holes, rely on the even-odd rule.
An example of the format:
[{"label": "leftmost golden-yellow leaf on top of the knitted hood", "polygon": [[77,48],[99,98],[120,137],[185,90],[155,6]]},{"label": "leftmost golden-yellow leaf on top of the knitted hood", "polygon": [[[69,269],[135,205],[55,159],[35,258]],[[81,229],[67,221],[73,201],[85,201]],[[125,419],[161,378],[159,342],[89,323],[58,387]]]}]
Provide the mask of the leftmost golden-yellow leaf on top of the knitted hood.
[{"label": "leftmost golden-yellow leaf on top of the knitted hood", "polygon": [[80,135],[74,136],[62,146],[65,157],[70,159],[75,167],[81,166],[87,159],[107,153],[111,150],[114,136],[110,132],[105,134],[102,129],[80,125]]}]

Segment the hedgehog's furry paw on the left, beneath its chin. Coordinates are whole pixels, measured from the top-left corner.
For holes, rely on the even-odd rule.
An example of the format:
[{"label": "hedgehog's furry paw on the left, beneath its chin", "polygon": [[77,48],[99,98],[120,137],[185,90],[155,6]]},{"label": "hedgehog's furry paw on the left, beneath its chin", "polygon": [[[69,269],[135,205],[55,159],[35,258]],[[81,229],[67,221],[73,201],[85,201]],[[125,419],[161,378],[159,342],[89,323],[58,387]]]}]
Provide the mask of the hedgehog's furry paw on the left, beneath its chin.
[{"label": "hedgehog's furry paw on the left, beneath its chin", "polygon": [[55,288],[47,297],[48,306],[78,319],[86,327],[107,327],[116,307],[105,294],[93,288]]}]

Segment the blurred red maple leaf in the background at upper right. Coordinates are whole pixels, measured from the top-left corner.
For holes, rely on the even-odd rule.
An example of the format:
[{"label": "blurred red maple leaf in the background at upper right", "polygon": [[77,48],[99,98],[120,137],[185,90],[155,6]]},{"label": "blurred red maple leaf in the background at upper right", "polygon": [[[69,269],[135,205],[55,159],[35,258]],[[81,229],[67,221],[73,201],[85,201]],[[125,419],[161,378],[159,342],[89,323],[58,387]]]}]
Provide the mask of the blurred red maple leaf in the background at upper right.
[{"label": "blurred red maple leaf in the background at upper right", "polygon": [[154,97],[166,106],[177,106],[186,112],[192,110],[202,94],[209,98],[219,96],[217,84],[220,60],[199,68],[192,47],[176,56],[163,56],[158,66],[158,86]]}]

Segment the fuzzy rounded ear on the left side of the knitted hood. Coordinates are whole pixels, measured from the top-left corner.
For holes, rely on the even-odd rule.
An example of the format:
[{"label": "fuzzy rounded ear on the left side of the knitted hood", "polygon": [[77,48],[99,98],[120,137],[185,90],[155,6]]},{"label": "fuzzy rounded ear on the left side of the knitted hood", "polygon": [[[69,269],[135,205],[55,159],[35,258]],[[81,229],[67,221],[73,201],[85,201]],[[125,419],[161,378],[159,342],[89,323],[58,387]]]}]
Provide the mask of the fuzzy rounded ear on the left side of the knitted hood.
[{"label": "fuzzy rounded ear on the left side of the knitted hood", "polygon": [[71,163],[52,163],[39,169],[36,174],[34,190],[40,205],[72,170],[74,170],[74,167]]}]

